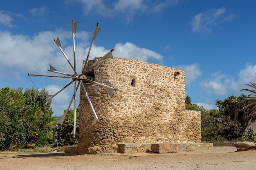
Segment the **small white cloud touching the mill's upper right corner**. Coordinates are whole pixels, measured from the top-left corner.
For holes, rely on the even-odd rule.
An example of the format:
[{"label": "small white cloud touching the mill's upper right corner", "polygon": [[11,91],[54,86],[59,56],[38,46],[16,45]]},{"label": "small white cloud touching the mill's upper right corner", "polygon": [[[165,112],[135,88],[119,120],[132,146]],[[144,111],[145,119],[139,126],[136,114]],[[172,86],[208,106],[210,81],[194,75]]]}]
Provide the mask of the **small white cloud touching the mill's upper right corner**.
[{"label": "small white cloud touching the mill's upper right corner", "polygon": [[189,86],[192,82],[195,81],[195,79],[202,75],[202,71],[200,70],[200,64],[180,65],[175,66],[175,68],[179,68],[185,71],[186,86]]}]

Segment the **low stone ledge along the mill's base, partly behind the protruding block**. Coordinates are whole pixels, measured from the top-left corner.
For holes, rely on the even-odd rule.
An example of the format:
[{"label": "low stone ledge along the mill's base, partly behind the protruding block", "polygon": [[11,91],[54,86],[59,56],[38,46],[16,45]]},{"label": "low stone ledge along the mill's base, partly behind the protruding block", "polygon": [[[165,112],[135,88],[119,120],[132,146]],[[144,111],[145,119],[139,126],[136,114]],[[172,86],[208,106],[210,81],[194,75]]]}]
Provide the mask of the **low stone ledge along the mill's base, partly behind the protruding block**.
[{"label": "low stone ledge along the mill's base, partly behind the protruding block", "polygon": [[[213,143],[170,143],[177,144],[177,152],[195,150],[213,150]],[[151,151],[152,144],[117,144],[117,152],[130,154]],[[176,151],[175,151],[176,152]],[[177,153],[176,152],[176,153]]]}]

